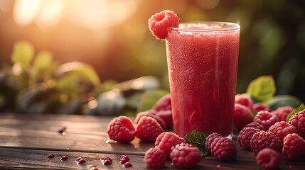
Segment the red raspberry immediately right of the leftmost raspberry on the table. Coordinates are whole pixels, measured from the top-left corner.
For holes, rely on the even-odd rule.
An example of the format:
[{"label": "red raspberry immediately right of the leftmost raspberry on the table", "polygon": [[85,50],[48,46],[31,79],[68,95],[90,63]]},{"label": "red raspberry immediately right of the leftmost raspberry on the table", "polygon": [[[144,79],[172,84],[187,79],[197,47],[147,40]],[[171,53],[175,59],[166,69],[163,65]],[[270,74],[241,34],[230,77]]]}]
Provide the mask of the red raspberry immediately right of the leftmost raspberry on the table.
[{"label": "red raspberry immediately right of the leftmost raspberry on the table", "polygon": [[156,119],[148,116],[141,117],[136,127],[136,136],[146,142],[154,142],[162,132],[163,129]]}]

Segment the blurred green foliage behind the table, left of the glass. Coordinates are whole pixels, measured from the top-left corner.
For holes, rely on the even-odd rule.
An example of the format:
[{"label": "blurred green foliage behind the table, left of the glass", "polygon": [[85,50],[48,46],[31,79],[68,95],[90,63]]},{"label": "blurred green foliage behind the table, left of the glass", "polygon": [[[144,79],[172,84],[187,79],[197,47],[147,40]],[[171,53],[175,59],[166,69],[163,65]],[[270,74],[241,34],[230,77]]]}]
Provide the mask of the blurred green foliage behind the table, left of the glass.
[{"label": "blurred green foliage behind the table, left of the glass", "polygon": [[[50,52],[34,52],[33,45],[19,41],[11,55],[12,67],[0,71],[0,109],[21,113],[134,115],[141,96],[154,94],[154,103],[168,94],[155,77],[103,83],[90,65],[58,64]],[[154,92],[149,92],[153,90]],[[145,91],[145,93],[144,93]],[[160,91],[157,93],[156,91]],[[144,106],[142,104],[142,106]],[[145,104],[145,106],[148,106]]]}]

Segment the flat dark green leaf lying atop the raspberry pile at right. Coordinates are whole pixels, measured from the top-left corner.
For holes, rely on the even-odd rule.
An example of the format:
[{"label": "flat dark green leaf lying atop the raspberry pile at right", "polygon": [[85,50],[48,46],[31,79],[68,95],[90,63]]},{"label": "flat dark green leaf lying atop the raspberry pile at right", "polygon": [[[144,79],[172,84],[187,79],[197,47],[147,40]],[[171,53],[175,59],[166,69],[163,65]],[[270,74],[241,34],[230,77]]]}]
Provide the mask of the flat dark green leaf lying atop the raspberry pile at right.
[{"label": "flat dark green leaf lying atop the raspberry pile at right", "polygon": [[271,111],[277,110],[279,107],[291,106],[292,108],[297,108],[301,104],[299,98],[290,95],[277,95],[273,96],[272,99],[267,103],[271,108]]}]

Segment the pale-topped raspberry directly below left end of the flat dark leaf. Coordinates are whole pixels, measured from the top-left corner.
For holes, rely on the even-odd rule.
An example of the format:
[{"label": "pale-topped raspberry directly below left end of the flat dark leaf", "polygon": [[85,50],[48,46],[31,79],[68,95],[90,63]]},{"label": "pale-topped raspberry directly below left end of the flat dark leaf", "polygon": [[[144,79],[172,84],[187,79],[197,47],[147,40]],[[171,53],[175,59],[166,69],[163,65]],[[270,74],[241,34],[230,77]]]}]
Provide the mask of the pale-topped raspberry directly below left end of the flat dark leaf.
[{"label": "pale-topped raspberry directly below left end of the flat dark leaf", "polygon": [[272,115],[269,111],[259,111],[253,120],[264,126],[264,130],[268,130],[270,126],[279,121],[277,115]]}]

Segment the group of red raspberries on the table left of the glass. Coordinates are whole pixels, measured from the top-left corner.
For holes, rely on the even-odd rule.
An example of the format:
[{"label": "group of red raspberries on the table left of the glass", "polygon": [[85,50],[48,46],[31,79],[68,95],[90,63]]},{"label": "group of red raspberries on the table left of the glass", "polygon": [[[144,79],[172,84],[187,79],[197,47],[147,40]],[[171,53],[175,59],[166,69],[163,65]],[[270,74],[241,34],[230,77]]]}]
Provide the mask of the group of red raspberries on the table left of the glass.
[{"label": "group of red raspberries on the table left of the glass", "polygon": [[128,143],[138,137],[145,142],[155,142],[164,129],[173,127],[171,113],[171,96],[161,98],[153,109],[137,114],[135,124],[127,116],[119,116],[111,120],[107,128],[110,139]]}]

